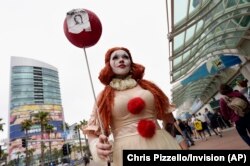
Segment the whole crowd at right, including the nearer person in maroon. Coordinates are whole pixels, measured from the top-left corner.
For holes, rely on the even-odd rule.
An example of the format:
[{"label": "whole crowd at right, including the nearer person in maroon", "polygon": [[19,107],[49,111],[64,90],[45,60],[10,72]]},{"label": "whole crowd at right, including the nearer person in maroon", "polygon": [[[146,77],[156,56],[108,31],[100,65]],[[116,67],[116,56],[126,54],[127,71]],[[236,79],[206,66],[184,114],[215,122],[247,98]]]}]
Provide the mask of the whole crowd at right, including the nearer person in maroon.
[{"label": "whole crowd at right, including the nearer person in maroon", "polygon": [[[246,93],[247,82],[246,80],[241,82],[240,85],[243,87],[241,91],[233,90],[228,84],[221,84],[219,92],[222,97],[219,100],[220,107],[217,110],[209,111],[208,108],[205,108],[203,114],[198,112],[187,120],[177,120],[187,147],[194,145],[194,140],[206,141],[209,136],[212,136],[212,133],[222,137],[222,130],[233,126],[242,140],[250,146],[250,104],[249,95]],[[245,101],[247,105],[243,109],[245,113],[239,114],[232,106],[230,107],[225,96],[231,99],[237,97]]]}]

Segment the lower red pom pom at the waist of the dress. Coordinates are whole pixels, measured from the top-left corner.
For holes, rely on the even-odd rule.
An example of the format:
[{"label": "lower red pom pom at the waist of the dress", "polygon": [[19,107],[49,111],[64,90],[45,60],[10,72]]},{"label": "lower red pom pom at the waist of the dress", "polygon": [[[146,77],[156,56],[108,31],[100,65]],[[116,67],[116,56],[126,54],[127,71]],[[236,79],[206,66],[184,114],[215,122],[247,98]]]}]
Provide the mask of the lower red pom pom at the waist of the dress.
[{"label": "lower red pom pom at the waist of the dress", "polygon": [[151,138],[155,134],[156,125],[152,120],[140,120],[137,126],[137,131],[142,137]]}]

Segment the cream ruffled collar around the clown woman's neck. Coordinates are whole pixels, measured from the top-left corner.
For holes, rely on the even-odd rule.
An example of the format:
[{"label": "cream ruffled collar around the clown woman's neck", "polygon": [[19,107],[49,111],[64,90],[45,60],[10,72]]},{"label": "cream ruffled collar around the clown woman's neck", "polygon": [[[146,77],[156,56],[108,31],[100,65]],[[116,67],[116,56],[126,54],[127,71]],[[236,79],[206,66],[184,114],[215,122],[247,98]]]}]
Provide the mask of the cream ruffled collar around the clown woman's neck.
[{"label": "cream ruffled collar around the clown woman's neck", "polygon": [[135,79],[131,78],[131,75],[125,79],[113,78],[109,85],[115,90],[126,90],[134,88],[137,85]]}]

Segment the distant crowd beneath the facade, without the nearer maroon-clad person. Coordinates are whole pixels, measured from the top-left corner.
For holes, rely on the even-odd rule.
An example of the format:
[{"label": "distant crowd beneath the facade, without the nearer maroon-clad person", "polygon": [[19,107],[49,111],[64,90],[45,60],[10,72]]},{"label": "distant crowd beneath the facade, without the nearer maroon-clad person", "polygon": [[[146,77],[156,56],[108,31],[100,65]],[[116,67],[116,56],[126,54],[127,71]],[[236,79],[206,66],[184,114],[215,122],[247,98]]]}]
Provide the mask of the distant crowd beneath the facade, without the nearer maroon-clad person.
[{"label": "distant crowd beneath the facade, without the nearer maroon-clad person", "polygon": [[[230,122],[226,122],[218,111],[209,111],[205,108],[204,114],[197,113],[187,120],[177,119],[175,123],[178,125],[177,129],[170,126],[165,126],[165,129],[172,133],[180,144],[182,149],[195,145],[195,141],[206,141],[208,137],[218,135],[222,137],[222,129],[232,126]],[[181,136],[181,138],[180,138]]]}]

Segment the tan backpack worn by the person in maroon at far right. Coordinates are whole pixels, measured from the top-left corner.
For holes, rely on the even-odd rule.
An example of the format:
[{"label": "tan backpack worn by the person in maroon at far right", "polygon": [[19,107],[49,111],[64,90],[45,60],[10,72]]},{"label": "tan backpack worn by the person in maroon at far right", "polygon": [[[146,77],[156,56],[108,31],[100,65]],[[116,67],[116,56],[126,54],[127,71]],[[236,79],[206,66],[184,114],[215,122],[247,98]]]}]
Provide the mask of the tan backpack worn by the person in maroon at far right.
[{"label": "tan backpack worn by the person in maroon at far right", "polygon": [[240,97],[224,96],[224,100],[227,103],[227,106],[240,117],[244,117],[250,111],[248,102]]}]

